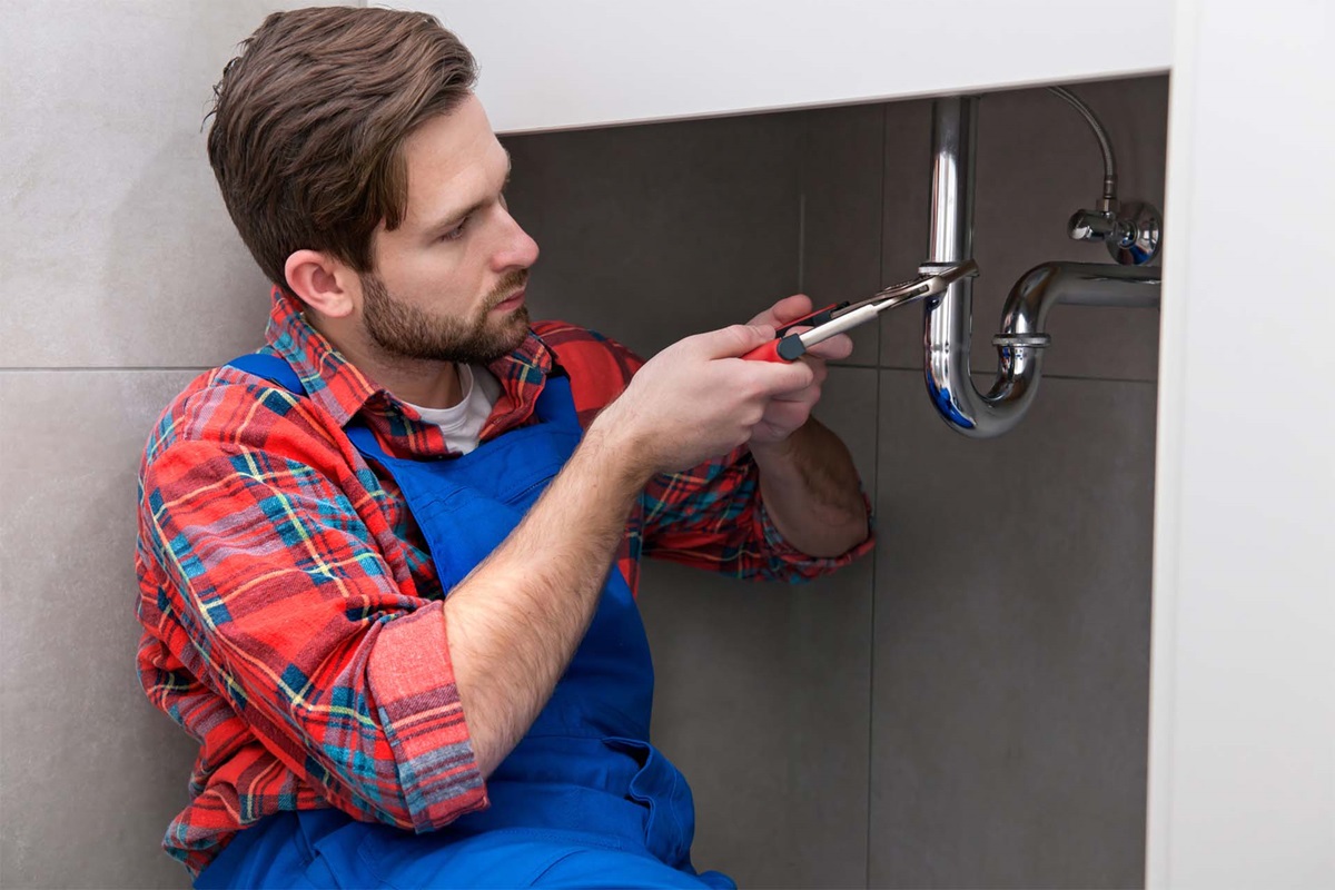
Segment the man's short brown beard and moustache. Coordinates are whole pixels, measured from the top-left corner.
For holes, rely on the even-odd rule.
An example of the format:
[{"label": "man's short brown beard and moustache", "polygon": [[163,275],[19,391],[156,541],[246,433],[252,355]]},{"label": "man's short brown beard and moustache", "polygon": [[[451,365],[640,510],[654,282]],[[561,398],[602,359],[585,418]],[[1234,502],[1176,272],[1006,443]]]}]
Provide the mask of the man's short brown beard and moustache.
[{"label": "man's short brown beard and moustache", "polygon": [[529,270],[510,272],[470,316],[437,315],[405,303],[378,275],[362,276],[363,319],[371,342],[396,359],[491,364],[529,336],[529,307],[499,319],[491,310],[529,280]]}]

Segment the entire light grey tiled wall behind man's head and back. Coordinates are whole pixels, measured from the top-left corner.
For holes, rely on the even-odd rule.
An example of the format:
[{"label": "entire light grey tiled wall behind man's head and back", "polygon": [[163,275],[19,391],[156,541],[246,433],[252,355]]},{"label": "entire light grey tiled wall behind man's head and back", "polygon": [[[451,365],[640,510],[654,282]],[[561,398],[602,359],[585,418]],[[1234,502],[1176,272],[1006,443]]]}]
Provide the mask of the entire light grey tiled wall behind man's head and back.
[{"label": "entire light grey tiled wall behind man's head and back", "polygon": [[135,674],[135,472],[167,400],[263,334],[200,124],[235,45],[300,5],[5,5],[0,886],[188,886],[160,842],[198,747]]}]

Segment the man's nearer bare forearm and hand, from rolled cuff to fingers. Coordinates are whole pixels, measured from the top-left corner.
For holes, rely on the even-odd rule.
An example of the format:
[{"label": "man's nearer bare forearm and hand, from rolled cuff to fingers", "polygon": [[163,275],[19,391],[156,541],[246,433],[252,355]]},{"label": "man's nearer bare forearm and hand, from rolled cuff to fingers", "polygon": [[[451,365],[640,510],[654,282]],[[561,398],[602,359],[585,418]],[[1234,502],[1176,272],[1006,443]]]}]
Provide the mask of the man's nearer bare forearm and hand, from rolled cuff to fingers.
[{"label": "man's nearer bare forearm and hand, from rolled cuff to fingers", "polygon": [[514,532],[445,600],[474,757],[490,775],[546,705],[597,608],[630,507],[649,479],[748,442],[804,364],[742,362],[772,328],[734,326],[651,359],[590,426]]}]

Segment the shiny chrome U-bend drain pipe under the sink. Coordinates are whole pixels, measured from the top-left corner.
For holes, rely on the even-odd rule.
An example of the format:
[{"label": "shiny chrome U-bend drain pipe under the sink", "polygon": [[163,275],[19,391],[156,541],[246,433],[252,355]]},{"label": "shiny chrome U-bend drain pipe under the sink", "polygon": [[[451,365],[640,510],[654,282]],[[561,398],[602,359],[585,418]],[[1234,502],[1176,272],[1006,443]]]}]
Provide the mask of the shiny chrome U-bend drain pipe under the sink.
[{"label": "shiny chrome U-bend drain pipe under the sink", "polygon": [[[973,254],[973,152],[976,97],[932,105],[930,264],[960,263]],[[924,267],[926,268],[926,267]],[[984,395],[969,376],[973,279],[951,284],[924,310],[924,372],[928,395],[959,432],[988,439],[1013,428],[1039,390],[1048,312],[1057,303],[1159,306],[1159,270],[1096,263],[1044,263],[1011,290],[993,338],[1000,364]]]}]

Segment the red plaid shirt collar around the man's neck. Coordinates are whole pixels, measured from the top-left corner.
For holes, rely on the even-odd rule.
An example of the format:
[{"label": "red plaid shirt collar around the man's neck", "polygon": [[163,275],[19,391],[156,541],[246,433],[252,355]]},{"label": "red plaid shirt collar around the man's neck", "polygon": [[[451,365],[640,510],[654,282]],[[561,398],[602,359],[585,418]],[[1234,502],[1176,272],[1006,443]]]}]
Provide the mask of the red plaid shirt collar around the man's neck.
[{"label": "red plaid shirt collar around the man's neck", "polygon": [[[340,427],[364,411],[370,415],[372,427],[384,430],[387,422],[391,436],[398,438],[394,434],[403,430],[406,448],[422,451],[421,447],[414,447],[423,442],[421,430],[415,430],[423,426],[417,411],[343,358],[334,344],[311,327],[302,310],[298,298],[275,287],[264,340],[292,366],[307,395]],[[519,426],[533,414],[543,383],[551,374],[553,358],[547,346],[530,330],[519,348],[493,362],[489,370],[501,382],[502,394],[482,431],[483,439]],[[434,436],[427,438],[433,439]]]}]

